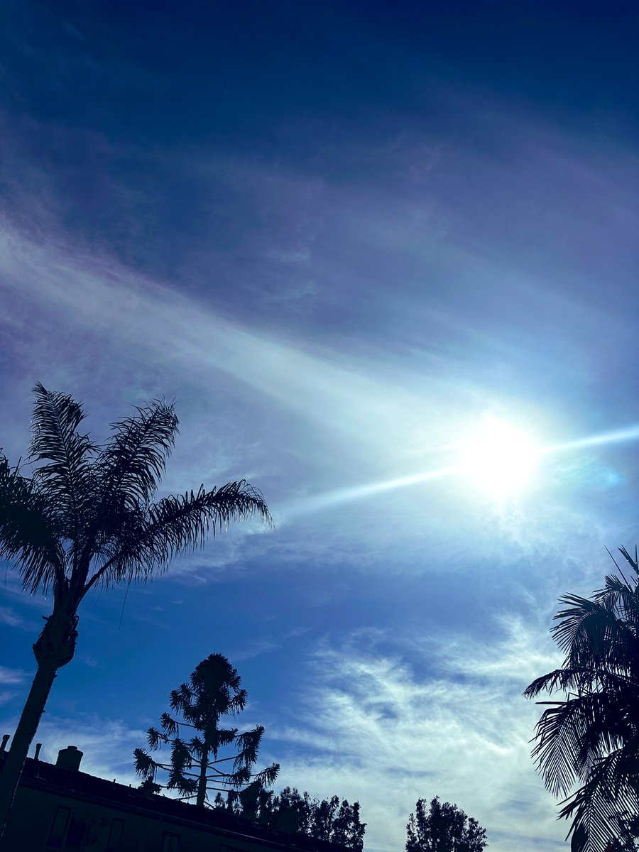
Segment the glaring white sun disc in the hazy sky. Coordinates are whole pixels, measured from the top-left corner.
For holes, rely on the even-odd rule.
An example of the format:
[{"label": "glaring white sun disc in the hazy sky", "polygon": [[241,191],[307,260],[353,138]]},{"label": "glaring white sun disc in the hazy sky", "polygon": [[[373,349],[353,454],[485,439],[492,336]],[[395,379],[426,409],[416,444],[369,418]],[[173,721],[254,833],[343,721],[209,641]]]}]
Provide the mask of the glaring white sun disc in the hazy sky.
[{"label": "glaring white sun disc in the hazy sky", "polygon": [[494,498],[521,492],[533,480],[539,446],[530,435],[486,414],[459,445],[459,469]]}]

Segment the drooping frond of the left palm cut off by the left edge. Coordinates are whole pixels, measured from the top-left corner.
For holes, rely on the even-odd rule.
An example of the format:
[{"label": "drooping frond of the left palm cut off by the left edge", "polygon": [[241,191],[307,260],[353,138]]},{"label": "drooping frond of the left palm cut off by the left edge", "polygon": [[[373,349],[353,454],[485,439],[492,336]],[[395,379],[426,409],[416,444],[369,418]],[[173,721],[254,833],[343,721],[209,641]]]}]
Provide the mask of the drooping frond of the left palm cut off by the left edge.
[{"label": "drooping frond of the left palm cut off by the left edge", "polygon": [[25,590],[63,586],[65,555],[49,502],[0,455],[0,558],[19,564]]}]

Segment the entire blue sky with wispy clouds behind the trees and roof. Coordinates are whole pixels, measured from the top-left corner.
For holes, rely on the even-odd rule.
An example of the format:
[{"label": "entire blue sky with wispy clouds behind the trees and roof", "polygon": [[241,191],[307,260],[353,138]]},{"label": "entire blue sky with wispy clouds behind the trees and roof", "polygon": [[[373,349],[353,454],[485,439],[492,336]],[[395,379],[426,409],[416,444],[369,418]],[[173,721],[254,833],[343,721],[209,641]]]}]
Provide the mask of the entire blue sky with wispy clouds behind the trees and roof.
[{"label": "entire blue sky with wispy clouds behind the trees and roof", "polygon": [[[98,441],[164,396],[161,493],[245,478],[275,521],[83,602],[43,758],[137,783],[223,653],[277,786],[359,800],[370,852],[435,795],[494,852],[566,849],[521,693],[561,664],[558,598],[636,541],[636,4],[0,15],[3,452],[36,381]],[[508,492],[495,423],[539,451]],[[3,568],[0,733],[50,607]]]}]

